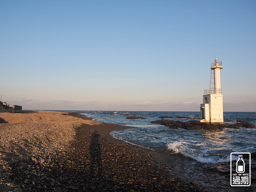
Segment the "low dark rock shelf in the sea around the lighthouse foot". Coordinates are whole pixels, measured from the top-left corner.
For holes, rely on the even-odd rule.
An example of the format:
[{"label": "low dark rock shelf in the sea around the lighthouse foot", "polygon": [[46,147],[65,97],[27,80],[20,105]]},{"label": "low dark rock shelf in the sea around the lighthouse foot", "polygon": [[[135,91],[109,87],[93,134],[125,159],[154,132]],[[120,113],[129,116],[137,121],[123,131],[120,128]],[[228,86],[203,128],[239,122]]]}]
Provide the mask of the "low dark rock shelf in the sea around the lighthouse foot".
[{"label": "low dark rock shelf in the sea around the lighthouse foot", "polygon": [[222,130],[224,128],[238,129],[241,127],[244,128],[256,128],[254,124],[249,123],[248,121],[234,121],[232,123],[204,123],[199,121],[173,121],[161,119],[157,121],[151,121],[151,123],[157,123],[161,125],[168,126],[172,129],[187,129],[187,130]]}]

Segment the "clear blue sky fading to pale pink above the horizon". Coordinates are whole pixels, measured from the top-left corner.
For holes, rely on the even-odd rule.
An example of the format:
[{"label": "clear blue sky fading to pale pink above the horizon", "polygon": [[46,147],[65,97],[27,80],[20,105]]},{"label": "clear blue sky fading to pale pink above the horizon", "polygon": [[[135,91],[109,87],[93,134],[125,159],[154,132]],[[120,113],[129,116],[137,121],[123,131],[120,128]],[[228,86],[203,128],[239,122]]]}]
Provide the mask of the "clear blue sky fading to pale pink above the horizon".
[{"label": "clear blue sky fading to pale pink above the horizon", "polygon": [[256,1],[0,0],[0,95],[34,110],[256,112]]}]

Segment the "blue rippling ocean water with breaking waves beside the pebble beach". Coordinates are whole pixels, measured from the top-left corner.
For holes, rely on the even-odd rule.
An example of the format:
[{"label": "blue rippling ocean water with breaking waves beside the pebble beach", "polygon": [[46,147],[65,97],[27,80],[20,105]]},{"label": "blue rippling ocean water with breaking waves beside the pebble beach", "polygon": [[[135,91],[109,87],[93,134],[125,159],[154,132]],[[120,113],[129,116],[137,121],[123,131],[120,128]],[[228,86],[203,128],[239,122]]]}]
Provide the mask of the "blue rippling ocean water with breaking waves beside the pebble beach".
[{"label": "blue rippling ocean water with breaking waves beside the pebble beach", "polygon": [[[231,152],[256,152],[256,129],[185,130],[153,124],[161,116],[200,118],[200,112],[75,111],[95,121],[131,126],[111,135],[149,149],[180,153],[202,163],[230,161]],[[245,120],[256,125],[256,112],[224,112],[224,122]],[[140,116],[145,119],[126,119]],[[169,119],[190,121],[191,119]]]}]

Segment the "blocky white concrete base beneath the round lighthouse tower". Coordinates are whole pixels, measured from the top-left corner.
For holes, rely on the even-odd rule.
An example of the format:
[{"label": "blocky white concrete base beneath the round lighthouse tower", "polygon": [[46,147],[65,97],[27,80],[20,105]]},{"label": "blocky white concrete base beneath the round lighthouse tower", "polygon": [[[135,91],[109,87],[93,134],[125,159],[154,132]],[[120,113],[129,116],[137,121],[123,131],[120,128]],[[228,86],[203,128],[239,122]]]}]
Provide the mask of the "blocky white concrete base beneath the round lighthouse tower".
[{"label": "blocky white concrete base beneath the round lighthouse tower", "polygon": [[223,123],[222,94],[203,95],[203,104],[200,105],[200,122]]}]

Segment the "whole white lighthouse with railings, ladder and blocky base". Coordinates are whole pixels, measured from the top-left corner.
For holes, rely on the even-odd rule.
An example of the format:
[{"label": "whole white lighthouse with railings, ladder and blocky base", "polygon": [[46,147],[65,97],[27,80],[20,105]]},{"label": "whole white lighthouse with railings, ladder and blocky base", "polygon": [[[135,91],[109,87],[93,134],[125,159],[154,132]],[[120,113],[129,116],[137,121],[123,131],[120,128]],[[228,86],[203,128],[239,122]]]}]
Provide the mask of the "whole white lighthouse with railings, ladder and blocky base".
[{"label": "whole white lighthouse with railings, ladder and blocky base", "polygon": [[[223,98],[220,87],[220,69],[222,62],[215,59],[211,64],[210,89],[204,90],[203,104],[200,105],[201,122],[223,123]],[[212,88],[212,74],[214,73],[214,88]]]}]

